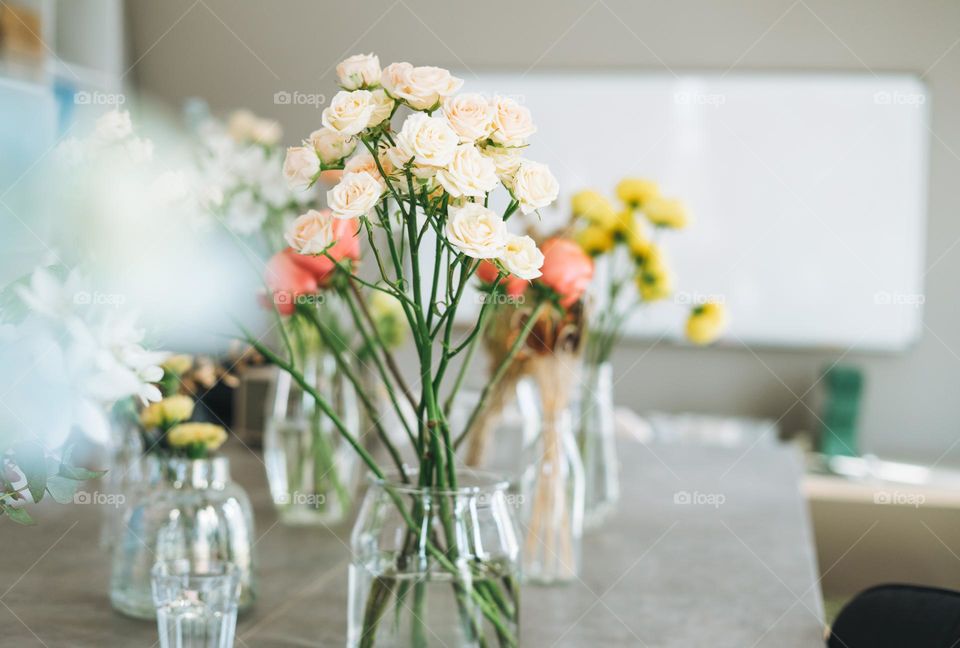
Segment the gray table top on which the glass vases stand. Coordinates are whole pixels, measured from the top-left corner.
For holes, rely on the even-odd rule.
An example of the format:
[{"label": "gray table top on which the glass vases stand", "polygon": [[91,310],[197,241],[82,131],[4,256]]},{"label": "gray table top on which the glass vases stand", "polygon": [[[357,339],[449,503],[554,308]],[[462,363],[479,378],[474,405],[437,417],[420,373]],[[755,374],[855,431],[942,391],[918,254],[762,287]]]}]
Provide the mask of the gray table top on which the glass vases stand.
[{"label": "gray table top on which the glass vases stand", "polygon": [[[237,646],[344,645],[349,525],[277,524],[259,457],[231,457],[254,501],[260,560],[260,598]],[[523,645],[824,645],[799,457],[624,442],[620,460],[621,506],[585,538],[581,580],[524,588]],[[36,513],[37,527],[0,521],[0,646],[154,645],[153,624],[110,608],[95,507]]]}]

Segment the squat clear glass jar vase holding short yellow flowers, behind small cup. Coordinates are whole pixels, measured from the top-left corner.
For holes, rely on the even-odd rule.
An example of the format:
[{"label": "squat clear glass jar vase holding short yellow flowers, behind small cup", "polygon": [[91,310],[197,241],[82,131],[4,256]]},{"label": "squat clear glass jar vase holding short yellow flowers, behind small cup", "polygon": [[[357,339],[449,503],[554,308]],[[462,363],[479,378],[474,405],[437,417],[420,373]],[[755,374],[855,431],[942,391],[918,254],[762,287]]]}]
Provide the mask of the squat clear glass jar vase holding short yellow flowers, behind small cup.
[{"label": "squat clear glass jar vase holding short yellow flowers, behind small cup", "polygon": [[155,618],[151,570],[158,561],[187,560],[197,569],[228,562],[240,573],[241,611],[256,597],[253,509],[230,479],[226,457],[147,458],[154,486],[127,507],[113,549],[110,602],[120,612]]}]

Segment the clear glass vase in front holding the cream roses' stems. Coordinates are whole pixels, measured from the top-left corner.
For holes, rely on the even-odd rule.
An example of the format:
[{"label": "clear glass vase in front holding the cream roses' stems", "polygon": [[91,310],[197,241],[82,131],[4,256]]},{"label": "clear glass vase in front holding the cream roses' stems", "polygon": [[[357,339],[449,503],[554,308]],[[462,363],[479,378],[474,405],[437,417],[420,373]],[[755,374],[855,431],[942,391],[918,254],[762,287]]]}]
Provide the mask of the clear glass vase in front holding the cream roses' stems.
[{"label": "clear glass vase in front holding the cream roses' stems", "polygon": [[348,646],[519,645],[507,483],[458,472],[454,490],[372,483],[351,539]]}]

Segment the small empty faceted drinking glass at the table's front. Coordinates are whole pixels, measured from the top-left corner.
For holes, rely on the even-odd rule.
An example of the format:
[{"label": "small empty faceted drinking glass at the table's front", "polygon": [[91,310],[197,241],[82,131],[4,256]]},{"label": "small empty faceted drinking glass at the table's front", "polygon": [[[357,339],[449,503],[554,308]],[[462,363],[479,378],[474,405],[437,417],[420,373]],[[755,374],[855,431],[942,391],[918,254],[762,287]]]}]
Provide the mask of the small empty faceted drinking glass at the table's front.
[{"label": "small empty faceted drinking glass at the table's front", "polygon": [[240,598],[236,565],[170,560],[151,573],[160,648],[232,648]]}]

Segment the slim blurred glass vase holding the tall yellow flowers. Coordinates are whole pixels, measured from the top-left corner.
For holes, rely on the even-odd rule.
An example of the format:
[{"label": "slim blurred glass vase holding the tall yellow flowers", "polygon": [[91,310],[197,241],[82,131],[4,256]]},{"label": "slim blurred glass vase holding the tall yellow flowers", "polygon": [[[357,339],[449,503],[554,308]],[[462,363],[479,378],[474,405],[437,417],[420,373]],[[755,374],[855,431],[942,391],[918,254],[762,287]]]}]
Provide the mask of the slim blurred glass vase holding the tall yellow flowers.
[{"label": "slim blurred glass vase holding the tall yellow flowers", "polygon": [[610,363],[586,363],[580,385],[577,445],[583,461],[583,521],[591,529],[600,526],[620,499]]}]

